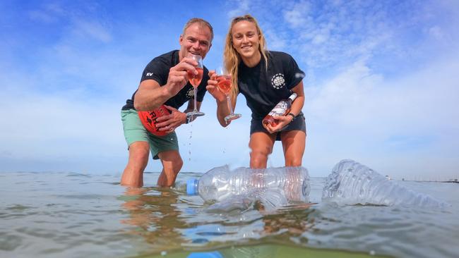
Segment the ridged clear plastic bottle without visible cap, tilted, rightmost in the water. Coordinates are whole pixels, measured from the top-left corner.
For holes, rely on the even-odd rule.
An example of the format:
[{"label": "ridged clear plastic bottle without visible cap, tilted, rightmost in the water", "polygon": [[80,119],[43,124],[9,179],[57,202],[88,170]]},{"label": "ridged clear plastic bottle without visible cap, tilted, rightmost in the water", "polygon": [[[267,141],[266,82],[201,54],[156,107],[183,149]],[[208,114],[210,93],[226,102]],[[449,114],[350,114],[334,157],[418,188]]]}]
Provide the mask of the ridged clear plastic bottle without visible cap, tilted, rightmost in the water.
[{"label": "ridged clear plastic bottle without visible cap, tilted, rightmost in the water", "polygon": [[345,159],[326,178],[322,200],[342,205],[418,205],[445,207],[448,204],[409,190],[356,161]]}]

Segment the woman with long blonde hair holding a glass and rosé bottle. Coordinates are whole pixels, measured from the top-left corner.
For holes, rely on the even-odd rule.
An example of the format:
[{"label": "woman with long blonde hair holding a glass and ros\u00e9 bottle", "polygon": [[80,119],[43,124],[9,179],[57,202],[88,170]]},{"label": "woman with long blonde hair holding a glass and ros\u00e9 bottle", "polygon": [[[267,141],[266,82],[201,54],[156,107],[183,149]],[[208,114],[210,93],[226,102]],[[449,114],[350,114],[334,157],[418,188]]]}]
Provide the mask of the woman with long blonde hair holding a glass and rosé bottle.
[{"label": "woman with long blonde hair holding a glass and ros\u00e9 bottle", "polygon": [[[282,141],[285,166],[302,166],[306,142],[306,125],[302,113],[304,91],[302,78],[292,56],[278,51],[267,51],[266,41],[256,19],[250,15],[232,20],[226,38],[224,53],[225,68],[232,75],[232,106],[237,94],[246,97],[252,111],[250,128],[250,167],[266,168],[268,155],[273,151],[275,140]],[[215,75],[208,81],[208,92],[217,99],[217,118],[220,125],[227,126],[225,116],[229,114],[225,95],[216,87]],[[263,125],[261,121],[292,92],[297,98],[287,116],[278,116],[278,125]]]}]

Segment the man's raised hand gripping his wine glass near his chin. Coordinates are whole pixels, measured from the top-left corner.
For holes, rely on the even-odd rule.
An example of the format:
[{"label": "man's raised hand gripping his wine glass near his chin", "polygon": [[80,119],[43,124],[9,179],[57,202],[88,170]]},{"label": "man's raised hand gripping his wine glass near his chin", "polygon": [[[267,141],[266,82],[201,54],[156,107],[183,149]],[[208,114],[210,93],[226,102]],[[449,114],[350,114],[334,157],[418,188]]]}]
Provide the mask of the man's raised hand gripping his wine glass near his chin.
[{"label": "man's raised hand gripping his wine glass near his chin", "polygon": [[177,95],[181,89],[188,82],[188,73],[193,73],[194,75],[198,74],[196,70],[198,63],[188,57],[181,59],[180,63],[177,63],[177,66],[174,66],[169,69],[169,76],[167,78],[166,87],[171,96]]}]

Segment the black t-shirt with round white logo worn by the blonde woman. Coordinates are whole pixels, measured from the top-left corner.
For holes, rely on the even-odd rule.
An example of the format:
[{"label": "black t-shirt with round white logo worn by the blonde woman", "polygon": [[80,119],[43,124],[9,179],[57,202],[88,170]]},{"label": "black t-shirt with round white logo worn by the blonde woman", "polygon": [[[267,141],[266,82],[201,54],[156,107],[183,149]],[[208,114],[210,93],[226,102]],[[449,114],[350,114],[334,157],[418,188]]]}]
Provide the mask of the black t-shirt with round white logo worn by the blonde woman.
[{"label": "black t-shirt with round white logo worn by the blonde woman", "polygon": [[237,85],[246,97],[252,118],[263,119],[281,99],[292,94],[292,88],[304,78],[292,56],[284,52],[268,51],[268,70],[263,55],[260,63],[248,67],[239,63]]}]

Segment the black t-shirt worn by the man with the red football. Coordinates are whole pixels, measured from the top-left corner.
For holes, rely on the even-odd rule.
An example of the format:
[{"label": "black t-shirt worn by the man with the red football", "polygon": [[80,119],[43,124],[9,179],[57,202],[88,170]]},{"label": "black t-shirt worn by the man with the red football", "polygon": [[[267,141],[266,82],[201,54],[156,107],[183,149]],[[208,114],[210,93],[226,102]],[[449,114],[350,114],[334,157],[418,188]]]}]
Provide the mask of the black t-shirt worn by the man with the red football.
[{"label": "black t-shirt worn by the man with the red football", "polygon": [[[144,80],[155,80],[159,85],[163,86],[167,83],[167,78],[169,77],[169,69],[173,66],[176,66],[179,63],[179,51],[173,50],[169,53],[162,54],[161,56],[155,57],[148,65],[145,67],[142,73],[141,82]],[[201,80],[201,84],[198,86],[197,89],[197,98],[198,102],[202,102],[204,99],[204,94],[206,92],[205,86],[207,85],[207,81],[209,80],[209,71],[204,66],[204,73],[203,73],[203,80]],[[137,90],[136,90],[137,92]],[[134,96],[136,92],[132,94],[132,98],[126,100],[126,105],[123,106],[122,110],[134,109]],[[165,104],[167,106],[173,106],[176,109],[179,109],[181,105],[185,102],[189,101],[189,99],[193,99],[193,85],[188,82],[183,89],[179,91],[177,95],[167,99]]]}]

